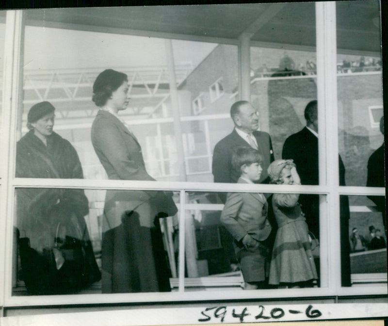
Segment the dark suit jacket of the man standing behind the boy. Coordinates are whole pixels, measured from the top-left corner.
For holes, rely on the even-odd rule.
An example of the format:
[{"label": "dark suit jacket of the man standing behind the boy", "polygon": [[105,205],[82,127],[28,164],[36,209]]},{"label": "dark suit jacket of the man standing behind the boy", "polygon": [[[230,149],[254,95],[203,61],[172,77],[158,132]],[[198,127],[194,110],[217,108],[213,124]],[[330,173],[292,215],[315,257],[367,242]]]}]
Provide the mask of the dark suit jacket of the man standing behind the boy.
[{"label": "dark suit jacket of the man standing behind the boy", "polygon": [[[261,163],[263,171],[258,183],[268,183],[267,168],[270,163],[275,160],[271,137],[264,131],[254,131],[253,135],[257,140],[259,152],[263,158],[263,162]],[[233,130],[232,133],[216,144],[214,147],[212,163],[214,182],[236,183],[240,178],[240,171],[232,169],[233,150],[240,146],[249,146],[249,144],[242,139],[236,130]],[[226,196],[221,199],[225,202]]]}]

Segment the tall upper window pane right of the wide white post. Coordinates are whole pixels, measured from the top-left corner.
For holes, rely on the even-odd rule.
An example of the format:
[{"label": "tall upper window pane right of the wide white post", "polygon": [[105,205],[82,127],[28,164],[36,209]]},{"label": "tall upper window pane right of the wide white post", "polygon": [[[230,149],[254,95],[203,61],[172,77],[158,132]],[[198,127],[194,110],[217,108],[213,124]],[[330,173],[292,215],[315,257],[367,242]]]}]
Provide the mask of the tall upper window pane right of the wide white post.
[{"label": "tall upper window pane right of the wide white post", "polygon": [[[356,16],[353,34],[365,36],[352,54],[344,54],[347,26]],[[346,171],[340,184],[384,187],[379,1],[337,2],[337,24],[339,154]]]}]

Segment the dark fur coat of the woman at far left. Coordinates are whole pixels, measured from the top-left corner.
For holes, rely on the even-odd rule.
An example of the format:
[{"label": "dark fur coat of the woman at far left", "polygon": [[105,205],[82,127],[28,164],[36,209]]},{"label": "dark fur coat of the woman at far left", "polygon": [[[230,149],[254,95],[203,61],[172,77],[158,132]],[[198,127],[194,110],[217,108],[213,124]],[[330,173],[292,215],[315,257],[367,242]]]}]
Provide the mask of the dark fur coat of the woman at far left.
[{"label": "dark fur coat of the woman at far left", "polygon": [[[83,179],[83,173],[78,154],[66,139],[53,132],[47,138],[46,147],[30,130],[16,144],[16,177]],[[41,244],[35,245],[34,239],[41,238],[44,231],[51,232],[48,225],[52,221],[47,219],[58,201],[80,221],[89,212],[88,199],[81,189],[18,188],[16,196],[17,226],[38,251]],[[56,224],[52,223],[51,228],[55,229]]]}]

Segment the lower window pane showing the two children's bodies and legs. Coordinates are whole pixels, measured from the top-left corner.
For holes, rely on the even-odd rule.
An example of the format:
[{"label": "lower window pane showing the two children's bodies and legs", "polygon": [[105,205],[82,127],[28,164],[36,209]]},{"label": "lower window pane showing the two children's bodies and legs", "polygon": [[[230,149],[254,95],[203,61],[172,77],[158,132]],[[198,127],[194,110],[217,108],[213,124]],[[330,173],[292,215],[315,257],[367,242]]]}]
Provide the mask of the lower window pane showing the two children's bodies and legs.
[{"label": "lower window pane showing the two children's bodies and legs", "polygon": [[[308,205],[298,203],[296,195],[266,196],[228,194],[224,206],[214,193],[190,194],[186,291],[319,285],[319,226],[318,233],[311,232],[319,219],[307,219]],[[313,196],[307,197],[312,206]]]}]

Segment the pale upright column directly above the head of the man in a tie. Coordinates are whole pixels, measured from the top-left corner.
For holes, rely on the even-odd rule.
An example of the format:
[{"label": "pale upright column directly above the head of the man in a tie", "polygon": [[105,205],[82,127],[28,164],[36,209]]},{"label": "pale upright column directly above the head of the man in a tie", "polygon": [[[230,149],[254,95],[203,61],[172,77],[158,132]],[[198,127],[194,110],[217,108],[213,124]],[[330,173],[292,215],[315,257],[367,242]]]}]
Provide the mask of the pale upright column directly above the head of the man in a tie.
[{"label": "pale upright column directly above the head of the man in a tie", "polygon": [[242,33],[239,37],[238,68],[239,68],[239,98],[251,100],[251,33]]}]

